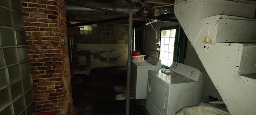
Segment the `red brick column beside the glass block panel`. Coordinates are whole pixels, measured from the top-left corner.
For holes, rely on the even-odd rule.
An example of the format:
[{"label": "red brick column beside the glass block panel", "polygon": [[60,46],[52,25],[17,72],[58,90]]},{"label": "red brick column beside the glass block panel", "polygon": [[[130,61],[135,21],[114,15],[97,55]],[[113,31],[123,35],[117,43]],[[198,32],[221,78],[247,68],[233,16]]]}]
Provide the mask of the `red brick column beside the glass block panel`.
[{"label": "red brick column beside the glass block panel", "polygon": [[36,111],[70,115],[72,93],[64,0],[22,0]]}]

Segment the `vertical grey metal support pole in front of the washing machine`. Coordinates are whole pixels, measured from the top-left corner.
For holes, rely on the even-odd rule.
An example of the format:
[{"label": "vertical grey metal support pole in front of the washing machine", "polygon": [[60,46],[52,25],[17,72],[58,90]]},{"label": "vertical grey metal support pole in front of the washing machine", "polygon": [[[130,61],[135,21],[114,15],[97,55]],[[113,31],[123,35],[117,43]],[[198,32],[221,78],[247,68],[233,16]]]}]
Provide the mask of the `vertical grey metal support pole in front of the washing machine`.
[{"label": "vertical grey metal support pole in front of the washing machine", "polygon": [[126,81],[126,112],[130,110],[130,84],[131,84],[131,53],[132,53],[132,8],[129,9],[129,29],[128,29],[128,59],[127,59],[127,81]]}]

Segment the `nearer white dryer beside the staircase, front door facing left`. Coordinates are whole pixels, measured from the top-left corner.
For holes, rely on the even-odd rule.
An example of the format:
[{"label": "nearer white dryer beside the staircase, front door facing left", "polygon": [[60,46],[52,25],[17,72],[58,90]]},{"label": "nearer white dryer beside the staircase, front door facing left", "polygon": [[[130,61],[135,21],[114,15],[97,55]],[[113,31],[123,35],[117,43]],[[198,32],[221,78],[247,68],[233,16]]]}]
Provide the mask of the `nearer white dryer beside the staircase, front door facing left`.
[{"label": "nearer white dryer beside the staircase, front door facing left", "polygon": [[197,105],[201,100],[202,71],[173,62],[169,75],[161,70],[148,71],[146,109],[150,115],[175,115],[182,107]]}]

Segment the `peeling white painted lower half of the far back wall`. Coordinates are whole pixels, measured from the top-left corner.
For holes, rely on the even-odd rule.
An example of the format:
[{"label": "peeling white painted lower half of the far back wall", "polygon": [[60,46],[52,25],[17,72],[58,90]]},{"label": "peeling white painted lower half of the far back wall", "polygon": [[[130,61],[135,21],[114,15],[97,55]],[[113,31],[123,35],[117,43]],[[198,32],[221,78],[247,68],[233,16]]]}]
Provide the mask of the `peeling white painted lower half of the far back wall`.
[{"label": "peeling white painted lower half of the far back wall", "polygon": [[[126,66],[128,44],[77,44],[80,50],[90,50],[91,68]],[[79,65],[86,65],[86,58],[79,57]]]}]

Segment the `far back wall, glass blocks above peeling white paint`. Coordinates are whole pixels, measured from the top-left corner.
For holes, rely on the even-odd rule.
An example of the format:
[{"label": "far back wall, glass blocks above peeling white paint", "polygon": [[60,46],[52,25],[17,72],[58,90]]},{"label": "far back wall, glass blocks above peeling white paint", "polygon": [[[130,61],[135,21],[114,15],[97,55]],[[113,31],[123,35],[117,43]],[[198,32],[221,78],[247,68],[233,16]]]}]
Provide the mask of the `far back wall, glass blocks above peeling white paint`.
[{"label": "far back wall, glass blocks above peeling white paint", "polygon": [[[126,66],[128,51],[128,25],[102,23],[80,28],[76,39],[77,50],[90,50],[91,68]],[[86,58],[78,58],[86,65]]]}]

